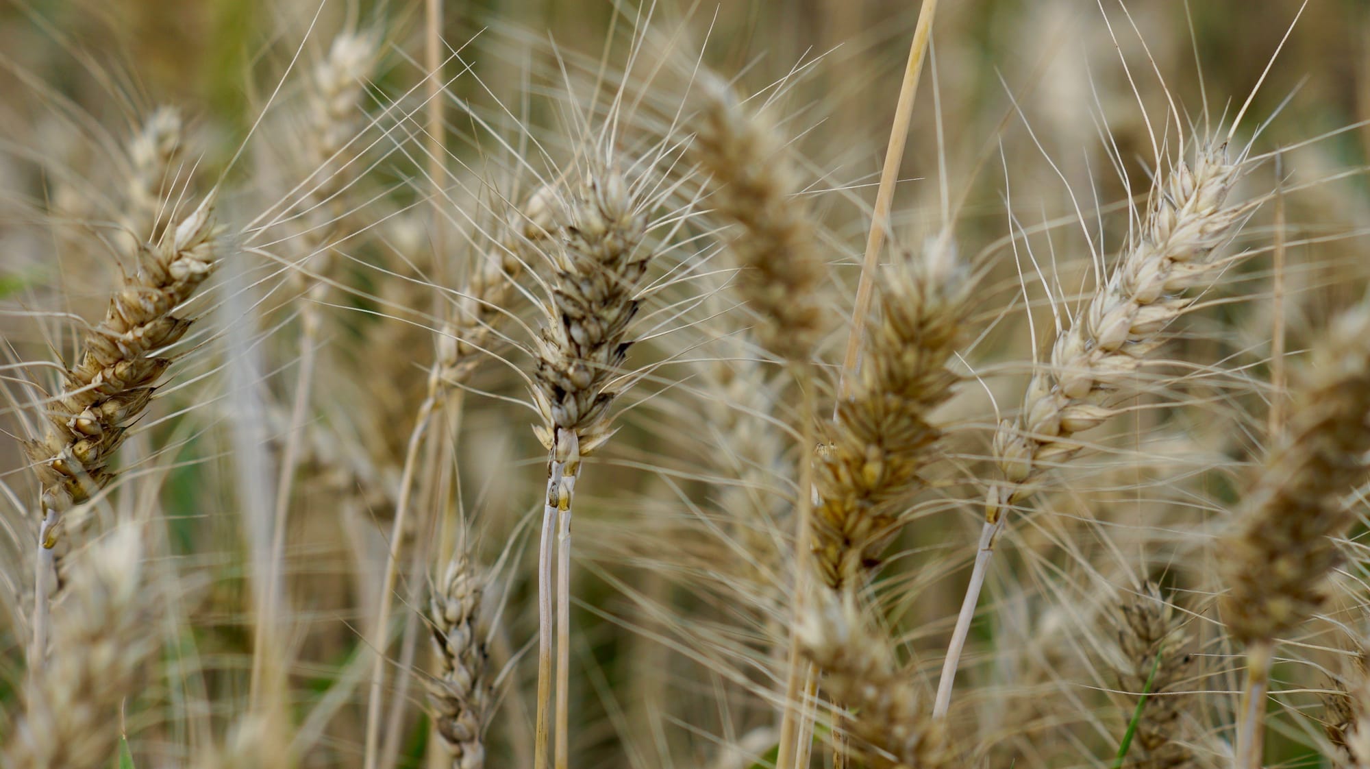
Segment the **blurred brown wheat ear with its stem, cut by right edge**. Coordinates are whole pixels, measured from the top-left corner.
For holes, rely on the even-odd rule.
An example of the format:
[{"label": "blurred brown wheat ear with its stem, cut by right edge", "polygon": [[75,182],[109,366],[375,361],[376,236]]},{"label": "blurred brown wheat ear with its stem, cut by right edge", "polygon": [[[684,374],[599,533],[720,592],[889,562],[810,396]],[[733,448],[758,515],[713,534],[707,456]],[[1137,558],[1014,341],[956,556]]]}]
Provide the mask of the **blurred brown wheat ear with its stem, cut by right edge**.
[{"label": "blurred brown wheat ear with its stem, cut by right edge", "polygon": [[1338,562],[1334,536],[1355,515],[1343,502],[1365,480],[1370,451],[1370,306],[1340,315],[1315,351],[1270,451],[1243,499],[1237,529],[1218,554],[1228,594],[1222,618],[1247,648],[1237,766],[1258,768],[1275,639],[1311,617]]}]

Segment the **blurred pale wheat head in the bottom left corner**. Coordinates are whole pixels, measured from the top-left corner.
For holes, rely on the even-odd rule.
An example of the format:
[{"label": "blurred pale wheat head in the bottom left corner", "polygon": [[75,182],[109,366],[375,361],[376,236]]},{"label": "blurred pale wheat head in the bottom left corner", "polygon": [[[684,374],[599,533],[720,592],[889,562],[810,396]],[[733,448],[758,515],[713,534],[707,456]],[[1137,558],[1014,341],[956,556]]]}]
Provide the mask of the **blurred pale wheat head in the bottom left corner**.
[{"label": "blurred pale wheat head in the bottom left corner", "polygon": [[126,526],[74,559],[53,611],[53,646],[23,689],[25,716],[5,736],[8,769],[103,769],[119,737],[119,703],[160,648],[162,587],[144,573]]}]

